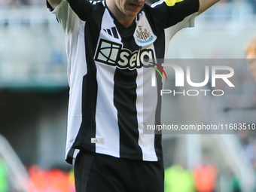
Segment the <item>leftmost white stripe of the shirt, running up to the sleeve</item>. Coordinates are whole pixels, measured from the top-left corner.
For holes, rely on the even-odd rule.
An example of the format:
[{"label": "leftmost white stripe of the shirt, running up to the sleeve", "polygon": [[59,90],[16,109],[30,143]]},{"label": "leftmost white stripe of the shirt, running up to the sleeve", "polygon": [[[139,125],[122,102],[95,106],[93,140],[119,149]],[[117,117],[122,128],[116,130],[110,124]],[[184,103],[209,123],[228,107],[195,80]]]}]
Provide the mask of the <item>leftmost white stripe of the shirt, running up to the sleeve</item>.
[{"label": "leftmost white stripe of the shirt, running up to the sleeve", "polygon": [[[84,22],[72,11],[68,3],[54,10],[66,41],[68,59],[69,110],[66,138],[66,157],[75,142],[82,121],[83,77],[87,74],[84,44]],[[68,13],[68,14],[67,14]]]}]

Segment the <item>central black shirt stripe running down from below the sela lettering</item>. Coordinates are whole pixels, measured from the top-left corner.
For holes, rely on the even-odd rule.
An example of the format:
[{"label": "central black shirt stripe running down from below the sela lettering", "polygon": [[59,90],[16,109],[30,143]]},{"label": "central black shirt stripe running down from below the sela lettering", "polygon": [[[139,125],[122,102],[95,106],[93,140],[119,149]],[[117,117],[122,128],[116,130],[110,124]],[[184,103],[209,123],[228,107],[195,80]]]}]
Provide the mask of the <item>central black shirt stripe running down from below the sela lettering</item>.
[{"label": "central black shirt stripe running down from below the sela lettering", "polygon": [[137,71],[116,69],[114,73],[114,106],[120,131],[120,157],[142,160],[136,110]]}]

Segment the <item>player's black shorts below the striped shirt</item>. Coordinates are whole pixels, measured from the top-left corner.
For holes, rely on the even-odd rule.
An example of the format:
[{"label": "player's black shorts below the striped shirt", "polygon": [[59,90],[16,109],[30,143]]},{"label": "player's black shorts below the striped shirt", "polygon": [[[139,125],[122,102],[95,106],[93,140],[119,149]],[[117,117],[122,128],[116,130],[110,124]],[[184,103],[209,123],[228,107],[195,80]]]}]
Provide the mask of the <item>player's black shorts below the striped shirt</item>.
[{"label": "player's black shorts below the striped shirt", "polygon": [[77,192],[163,192],[163,161],[150,162],[79,152]]}]

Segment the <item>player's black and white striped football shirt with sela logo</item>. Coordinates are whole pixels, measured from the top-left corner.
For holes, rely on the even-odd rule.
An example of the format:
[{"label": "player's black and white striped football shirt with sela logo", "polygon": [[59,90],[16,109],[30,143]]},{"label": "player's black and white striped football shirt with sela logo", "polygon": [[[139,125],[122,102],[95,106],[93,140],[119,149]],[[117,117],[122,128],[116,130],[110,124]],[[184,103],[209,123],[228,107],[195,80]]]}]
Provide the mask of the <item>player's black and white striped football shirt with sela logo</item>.
[{"label": "player's black and white striped football shirt with sela logo", "polygon": [[[50,6],[48,5],[50,8]],[[105,2],[62,0],[52,10],[65,34],[69,114],[66,160],[79,150],[135,160],[162,158],[161,135],[143,134],[160,123],[158,87],[145,59],[164,58],[180,29],[194,26],[199,0],[145,5],[125,28]],[[148,88],[150,87],[150,88]]]}]

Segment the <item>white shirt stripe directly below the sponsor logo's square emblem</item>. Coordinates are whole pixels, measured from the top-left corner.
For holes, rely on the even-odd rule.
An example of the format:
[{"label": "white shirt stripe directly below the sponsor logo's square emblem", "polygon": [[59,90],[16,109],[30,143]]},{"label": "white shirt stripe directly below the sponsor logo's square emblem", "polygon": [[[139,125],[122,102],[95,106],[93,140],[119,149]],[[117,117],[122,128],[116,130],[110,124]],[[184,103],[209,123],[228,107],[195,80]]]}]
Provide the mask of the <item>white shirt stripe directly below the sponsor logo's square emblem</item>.
[{"label": "white shirt stripe directly below the sponsor logo's square emblem", "polygon": [[114,107],[115,67],[97,63],[98,97],[96,103],[96,138],[104,139],[104,144],[96,143],[96,153],[120,157],[117,109]]}]

